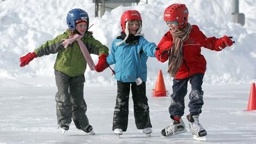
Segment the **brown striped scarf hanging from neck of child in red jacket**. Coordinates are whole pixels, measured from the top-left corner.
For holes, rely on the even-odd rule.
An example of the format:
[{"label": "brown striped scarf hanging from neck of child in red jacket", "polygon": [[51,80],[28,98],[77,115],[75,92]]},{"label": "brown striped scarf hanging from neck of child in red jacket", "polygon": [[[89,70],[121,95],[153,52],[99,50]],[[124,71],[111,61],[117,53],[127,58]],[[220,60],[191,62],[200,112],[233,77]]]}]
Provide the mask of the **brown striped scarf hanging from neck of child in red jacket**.
[{"label": "brown striped scarf hanging from neck of child in red jacket", "polygon": [[190,23],[186,24],[186,27],[184,29],[179,30],[178,32],[172,32],[170,30],[170,33],[173,35],[173,47],[170,50],[170,56],[169,56],[169,67],[168,67],[168,73],[170,77],[175,77],[176,73],[178,72],[182,61],[183,61],[183,42],[185,42],[192,30],[192,26]]}]

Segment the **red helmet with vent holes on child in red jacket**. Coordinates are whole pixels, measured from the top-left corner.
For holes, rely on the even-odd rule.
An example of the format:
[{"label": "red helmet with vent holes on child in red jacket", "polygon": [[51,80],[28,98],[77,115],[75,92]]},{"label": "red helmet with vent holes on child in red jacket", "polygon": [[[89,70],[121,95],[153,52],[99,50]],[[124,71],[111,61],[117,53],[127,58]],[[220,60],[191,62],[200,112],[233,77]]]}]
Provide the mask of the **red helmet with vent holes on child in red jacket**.
[{"label": "red helmet with vent holes on child in red jacket", "polygon": [[185,4],[172,4],[164,10],[164,21],[176,21],[180,28],[187,24],[188,10]]}]

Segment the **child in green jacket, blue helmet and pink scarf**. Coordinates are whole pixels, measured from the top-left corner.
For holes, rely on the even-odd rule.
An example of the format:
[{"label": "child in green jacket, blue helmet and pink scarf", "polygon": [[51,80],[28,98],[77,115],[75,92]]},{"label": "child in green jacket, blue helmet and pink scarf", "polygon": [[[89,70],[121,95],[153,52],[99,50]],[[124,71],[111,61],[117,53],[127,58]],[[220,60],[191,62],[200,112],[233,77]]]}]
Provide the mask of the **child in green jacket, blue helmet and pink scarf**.
[{"label": "child in green jacket, blue helmet and pink scarf", "polygon": [[94,70],[89,54],[108,54],[108,48],[102,45],[88,32],[89,17],[82,9],[72,9],[66,16],[69,29],[55,39],[47,41],[20,58],[20,66],[28,65],[34,58],[57,54],[54,73],[58,92],[55,96],[57,121],[62,134],[69,130],[71,117],[76,128],[89,134],[95,134],[86,116],[87,105],[83,98],[84,72],[87,64]]}]

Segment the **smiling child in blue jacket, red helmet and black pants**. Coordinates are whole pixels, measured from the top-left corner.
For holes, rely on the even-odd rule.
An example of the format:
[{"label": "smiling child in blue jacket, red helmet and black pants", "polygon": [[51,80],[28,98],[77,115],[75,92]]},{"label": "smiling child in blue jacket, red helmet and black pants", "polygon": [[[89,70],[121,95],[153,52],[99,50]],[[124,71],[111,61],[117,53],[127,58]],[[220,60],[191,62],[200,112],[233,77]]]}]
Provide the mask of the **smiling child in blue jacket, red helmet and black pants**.
[{"label": "smiling child in blue jacket, red helmet and black pants", "polygon": [[136,127],[150,136],[152,126],[146,96],[146,62],[148,57],[155,57],[159,50],[156,51],[155,43],[148,42],[142,36],[142,18],[137,10],[127,10],[123,13],[121,27],[121,35],[114,39],[111,53],[108,56],[100,56],[95,70],[101,72],[109,65],[115,64],[117,99],[112,128],[114,134],[119,136],[127,129],[131,89]]}]

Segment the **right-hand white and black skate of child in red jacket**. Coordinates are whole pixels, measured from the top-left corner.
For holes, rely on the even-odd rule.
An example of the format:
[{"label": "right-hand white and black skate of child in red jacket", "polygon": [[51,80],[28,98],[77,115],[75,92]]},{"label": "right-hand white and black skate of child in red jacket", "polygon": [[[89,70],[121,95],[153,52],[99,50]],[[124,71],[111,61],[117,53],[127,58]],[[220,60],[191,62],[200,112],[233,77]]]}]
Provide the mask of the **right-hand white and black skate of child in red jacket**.
[{"label": "right-hand white and black skate of child in red jacket", "polygon": [[199,123],[199,115],[187,115],[187,120],[190,124],[190,132],[193,135],[193,139],[197,141],[206,141],[206,130]]}]

